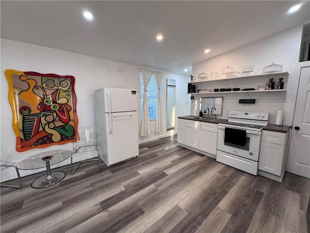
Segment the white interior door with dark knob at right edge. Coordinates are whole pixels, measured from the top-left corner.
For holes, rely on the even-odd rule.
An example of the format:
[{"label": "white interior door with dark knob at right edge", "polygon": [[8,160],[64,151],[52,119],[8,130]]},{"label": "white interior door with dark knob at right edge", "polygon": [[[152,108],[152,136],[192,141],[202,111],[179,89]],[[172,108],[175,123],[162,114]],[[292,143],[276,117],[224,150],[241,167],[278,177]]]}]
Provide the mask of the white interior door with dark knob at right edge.
[{"label": "white interior door with dark knob at right edge", "polygon": [[299,85],[286,171],[310,178],[310,62],[295,66]]}]

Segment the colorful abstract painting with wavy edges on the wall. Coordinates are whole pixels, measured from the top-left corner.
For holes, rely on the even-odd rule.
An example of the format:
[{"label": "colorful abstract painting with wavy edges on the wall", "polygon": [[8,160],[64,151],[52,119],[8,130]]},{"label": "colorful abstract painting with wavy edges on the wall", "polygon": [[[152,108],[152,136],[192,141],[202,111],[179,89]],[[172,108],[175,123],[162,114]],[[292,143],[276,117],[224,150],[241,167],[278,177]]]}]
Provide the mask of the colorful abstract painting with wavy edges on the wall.
[{"label": "colorful abstract painting with wavy edges on the wall", "polygon": [[78,138],[73,76],[5,70],[16,150],[45,148]]}]

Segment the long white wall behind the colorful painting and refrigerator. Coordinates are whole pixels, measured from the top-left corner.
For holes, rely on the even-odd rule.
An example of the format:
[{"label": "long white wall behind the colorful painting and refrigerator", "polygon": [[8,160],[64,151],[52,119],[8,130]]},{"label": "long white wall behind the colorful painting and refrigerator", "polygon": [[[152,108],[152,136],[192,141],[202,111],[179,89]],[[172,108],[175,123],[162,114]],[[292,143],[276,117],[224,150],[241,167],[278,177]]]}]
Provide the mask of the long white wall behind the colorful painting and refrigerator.
[{"label": "long white wall behind the colorful painting and refrigerator", "polygon": [[[32,149],[25,152],[16,152],[16,137],[12,128],[12,110],[8,102],[8,83],[4,70],[16,69],[20,71],[35,71],[39,73],[55,73],[58,75],[73,75],[76,79],[75,90],[77,95],[78,126],[94,126],[95,112],[93,90],[102,87],[134,88],[140,93],[140,70],[138,66],[120,62],[86,56],[78,53],[55,50],[51,48],[20,43],[1,39],[1,78],[0,78],[0,156],[1,160],[12,162],[21,161],[39,152],[67,149],[72,150],[72,143],[62,146],[51,146],[45,149]],[[163,86],[166,79],[176,80],[177,104],[176,117],[188,115],[186,113],[186,82],[189,77],[164,72]],[[179,101],[178,101],[179,100]],[[164,121],[166,119],[166,88],[163,88]],[[140,105],[140,100],[139,103]],[[140,114],[140,113],[139,113]],[[151,140],[170,134],[154,133],[155,121],[151,122],[152,134],[148,137],[139,137],[140,142]],[[174,133],[174,132],[172,132]],[[94,154],[82,154],[80,160],[93,157]],[[55,166],[69,164],[70,159]],[[55,166],[52,166],[55,167]],[[9,169],[10,170],[10,169]],[[28,175],[44,169],[21,171],[21,175]],[[7,171],[7,170],[6,170]],[[16,178],[14,171],[1,173],[1,182]]]}]

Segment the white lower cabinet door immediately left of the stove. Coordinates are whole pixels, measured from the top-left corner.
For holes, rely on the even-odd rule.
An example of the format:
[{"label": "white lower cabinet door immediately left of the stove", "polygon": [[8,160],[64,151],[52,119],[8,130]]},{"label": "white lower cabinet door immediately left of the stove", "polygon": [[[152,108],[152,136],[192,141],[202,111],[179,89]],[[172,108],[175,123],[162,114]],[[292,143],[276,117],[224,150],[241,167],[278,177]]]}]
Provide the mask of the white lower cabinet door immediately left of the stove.
[{"label": "white lower cabinet door immediately left of the stove", "polygon": [[217,133],[200,131],[199,150],[217,155]]}]

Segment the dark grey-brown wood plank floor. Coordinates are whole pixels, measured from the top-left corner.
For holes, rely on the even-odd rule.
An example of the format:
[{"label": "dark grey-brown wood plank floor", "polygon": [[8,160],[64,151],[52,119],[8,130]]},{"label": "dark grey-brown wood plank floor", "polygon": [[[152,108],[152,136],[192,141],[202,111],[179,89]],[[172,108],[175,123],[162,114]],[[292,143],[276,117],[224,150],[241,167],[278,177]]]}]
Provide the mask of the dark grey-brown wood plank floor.
[{"label": "dark grey-brown wood plank floor", "polygon": [[[0,232],[306,233],[310,180],[253,176],[180,147],[176,136],[140,145],[140,155],[100,171],[70,166],[62,182],[1,187]],[[44,173],[42,173],[44,174]],[[14,183],[10,181],[8,183]]]}]

